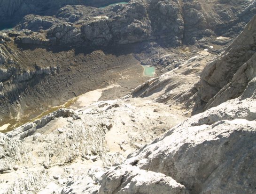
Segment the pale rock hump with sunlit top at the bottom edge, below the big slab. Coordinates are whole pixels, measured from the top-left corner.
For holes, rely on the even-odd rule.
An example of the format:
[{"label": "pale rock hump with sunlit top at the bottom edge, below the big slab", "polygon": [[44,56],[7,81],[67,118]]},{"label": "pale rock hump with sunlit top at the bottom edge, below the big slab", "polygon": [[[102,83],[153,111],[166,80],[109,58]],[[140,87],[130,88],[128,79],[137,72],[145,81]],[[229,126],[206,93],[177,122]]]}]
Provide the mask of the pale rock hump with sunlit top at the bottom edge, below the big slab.
[{"label": "pale rock hump with sunlit top at the bottom edge, below the big slab", "polygon": [[102,175],[99,194],[186,194],[186,188],[161,173],[140,170],[137,166],[112,167]]}]

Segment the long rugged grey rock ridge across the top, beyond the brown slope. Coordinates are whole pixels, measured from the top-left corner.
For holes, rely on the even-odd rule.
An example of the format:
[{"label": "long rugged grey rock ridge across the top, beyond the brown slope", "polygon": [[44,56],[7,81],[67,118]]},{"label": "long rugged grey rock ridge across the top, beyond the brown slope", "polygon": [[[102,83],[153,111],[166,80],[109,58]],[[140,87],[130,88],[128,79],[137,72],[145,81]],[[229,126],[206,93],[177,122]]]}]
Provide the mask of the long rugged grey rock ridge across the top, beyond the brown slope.
[{"label": "long rugged grey rock ridge across the top, beyond the brown slope", "polygon": [[[52,3],[60,7],[69,4],[65,1],[62,4]],[[86,1],[79,3],[87,5]],[[51,28],[47,30],[47,37],[56,37],[60,44],[72,46],[81,42],[90,46],[106,46],[159,38],[167,38],[174,46],[194,44],[196,40],[213,34],[236,36],[256,14],[256,3],[247,0],[236,3],[218,0],[208,3],[204,0],[132,0],[126,5],[105,9],[76,4],[74,1],[71,3],[74,6],[62,7],[55,11],[55,16],[26,16],[19,29],[38,31]],[[98,1],[95,2],[97,4]]]}]

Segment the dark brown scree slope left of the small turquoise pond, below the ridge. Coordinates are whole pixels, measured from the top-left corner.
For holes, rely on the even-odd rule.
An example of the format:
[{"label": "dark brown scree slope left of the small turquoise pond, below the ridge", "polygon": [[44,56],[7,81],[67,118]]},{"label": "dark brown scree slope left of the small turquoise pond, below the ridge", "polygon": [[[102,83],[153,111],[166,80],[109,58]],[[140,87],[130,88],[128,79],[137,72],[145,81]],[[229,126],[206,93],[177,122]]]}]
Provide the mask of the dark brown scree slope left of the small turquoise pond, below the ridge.
[{"label": "dark brown scree slope left of the small turquoise pond, below the ridge", "polygon": [[[41,112],[39,108],[46,110],[49,104],[59,106],[107,82],[114,82],[120,79],[120,72],[139,63],[129,55],[131,51],[127,48],[126,51],[123,48],[86,51],[57,47],[56,51],[48,51],[40,44],[33,50],[14,47],[15,53],[4,50],[2,59],[10,63],[0,68],[1,122],[15,117],[19,110],[37,116]],[[33,115],[33,109],[39,114]]]}]

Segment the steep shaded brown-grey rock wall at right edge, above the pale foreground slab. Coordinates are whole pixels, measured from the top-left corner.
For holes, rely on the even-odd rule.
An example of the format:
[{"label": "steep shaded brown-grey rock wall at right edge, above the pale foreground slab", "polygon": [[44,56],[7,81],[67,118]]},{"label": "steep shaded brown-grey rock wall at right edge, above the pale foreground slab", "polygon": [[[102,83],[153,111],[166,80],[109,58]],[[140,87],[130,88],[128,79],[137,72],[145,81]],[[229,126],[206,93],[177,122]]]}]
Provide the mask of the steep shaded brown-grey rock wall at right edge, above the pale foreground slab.
[{"label": "steep shaded brown-grey rock wall at right edge, above the pale foreground slab", "polygon": [[256,76],[256,16],[238,38],[201,75],[199,95],[205,109],[240,96]]}]

